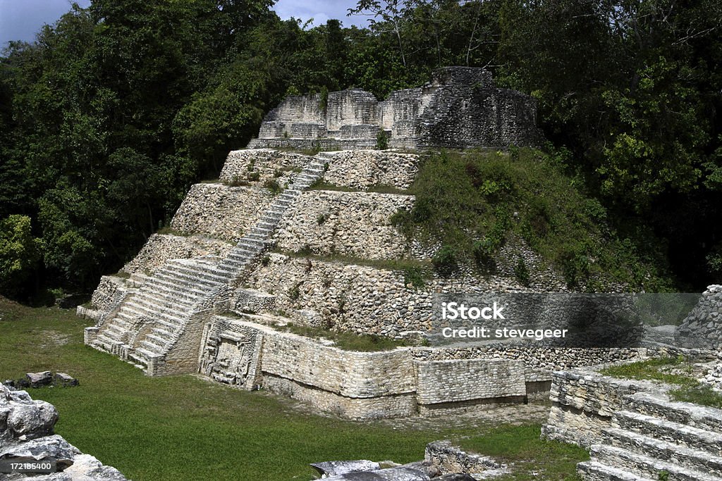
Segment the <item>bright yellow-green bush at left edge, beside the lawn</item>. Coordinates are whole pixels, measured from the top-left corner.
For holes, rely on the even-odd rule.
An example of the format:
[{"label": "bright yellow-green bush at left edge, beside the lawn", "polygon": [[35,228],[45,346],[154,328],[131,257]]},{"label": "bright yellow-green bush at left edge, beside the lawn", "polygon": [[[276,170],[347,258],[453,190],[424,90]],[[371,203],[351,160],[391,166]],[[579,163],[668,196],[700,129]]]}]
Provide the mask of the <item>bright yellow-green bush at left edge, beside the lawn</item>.
[{"label": "bright yellow-green bush at left edge, beside the lawn", "polygon": [[12,215],[0,219],[0,293],[20,294],[38,267],[40,239],[32,237],[30,218]]}]

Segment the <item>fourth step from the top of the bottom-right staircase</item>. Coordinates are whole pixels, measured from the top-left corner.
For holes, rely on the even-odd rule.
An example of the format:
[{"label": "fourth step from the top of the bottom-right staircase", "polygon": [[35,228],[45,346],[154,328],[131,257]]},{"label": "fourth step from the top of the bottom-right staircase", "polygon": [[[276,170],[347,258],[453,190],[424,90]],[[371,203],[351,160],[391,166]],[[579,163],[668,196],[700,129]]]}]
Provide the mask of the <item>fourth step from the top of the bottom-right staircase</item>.
[{"label": "fourth step from the top of the bottom-right staircase", "polygon": [[720,481],[720,478],[703,472],[679,467],[674,462],[652,459],[627,449],[594,444],[591,446],[591,460],[616,467],[633,475],[658,480],[661,473],[669,473],[669,481]]}]

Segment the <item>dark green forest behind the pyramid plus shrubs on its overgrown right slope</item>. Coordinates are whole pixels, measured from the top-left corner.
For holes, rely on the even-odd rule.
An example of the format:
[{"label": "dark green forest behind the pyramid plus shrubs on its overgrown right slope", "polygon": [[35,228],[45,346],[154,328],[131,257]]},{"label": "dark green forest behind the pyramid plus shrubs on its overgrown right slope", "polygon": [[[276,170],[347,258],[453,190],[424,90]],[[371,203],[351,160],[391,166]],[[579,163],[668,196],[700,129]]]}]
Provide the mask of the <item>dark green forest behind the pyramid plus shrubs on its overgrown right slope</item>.
[{"label": "dark green forest behind the pyramid plus shrubs on its overgrown right slope", "polygon": [[[51,241],[45,278],[90,286],[117,270],[167,224],[192,182],[217,177],[227,151],[245,145],[285,94],[320,92],[326,108],[329,91],[361,87],[381,99],[424,84],[437,66],[466,65],[487,66],[496,84],[536,99],[544,162],[583,194],[568,224],[613,227],[611,242],[623,246],[607,253],[622,252],[620,264],[632,267],[619,272],[573,229],[554,234],[564,224],[557,204],[516,193],[518,179],[499,162],[452,169],[463,182],[451,187],[465,190],[469,179],[476,191],[446,207],[472,207],[480,224],[471,231],[423,199],[411,224],[438,222],[450,232],[443,243],[476,256],[490,250],[472,247],[495,225],[488,206],[508,211],[521,200],[518,211],[531,213],[508,229],[540,251],[562,239],[544,255],[567,265],[570,285],[606,264],[652,288],[666,277],[665,255],[692,284],[719,279],[719,2],[360,1],[352,11],[370,14],[369,28],[335,19],[309,28],[280,20],[271,4],[97,0],[43,27],[36,43],[10,43],[0,58],[0,218],[27,215]],[[525,156],[509,147],[510,162],[528,166]],[[541,172],[539,197],[560,187],[543,180]],[[473,210],[479,196],[485,211]]]}]

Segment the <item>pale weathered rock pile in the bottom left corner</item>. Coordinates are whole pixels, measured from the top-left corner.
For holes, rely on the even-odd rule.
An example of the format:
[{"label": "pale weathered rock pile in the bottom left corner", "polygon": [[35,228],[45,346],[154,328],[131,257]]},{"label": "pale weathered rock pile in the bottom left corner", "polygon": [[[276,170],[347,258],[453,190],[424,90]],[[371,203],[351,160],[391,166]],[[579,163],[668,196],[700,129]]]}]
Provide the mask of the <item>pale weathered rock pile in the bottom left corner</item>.
[{"label": "pale weathered rock pile in the bottom left corner", "polygon": [[53,434],[56,408],[30,398],[25,391],[0,385],[0,461],[56,462],[51,474],[1,473],[2,480],[124,481],[118,469],[82,454],[64,438]]}]

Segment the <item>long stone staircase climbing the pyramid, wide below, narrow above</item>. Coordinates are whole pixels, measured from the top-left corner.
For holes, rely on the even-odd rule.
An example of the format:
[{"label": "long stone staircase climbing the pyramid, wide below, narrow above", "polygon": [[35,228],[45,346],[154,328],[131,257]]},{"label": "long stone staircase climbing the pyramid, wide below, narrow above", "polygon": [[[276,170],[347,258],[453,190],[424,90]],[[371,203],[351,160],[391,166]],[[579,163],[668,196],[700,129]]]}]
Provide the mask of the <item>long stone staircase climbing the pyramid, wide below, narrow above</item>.
[{"label": "long stone staircase climbing the pyramid, wide below, narrow above", "polygon": [[230,288],[250,273],[273,242],[284,212],[323,175],[324,161],[323,156],[311,158],[227,257],[169,260],[147,276],[113,312],[87,328],[92,332],[89,344],[155,374],[150,368],[162,366],[188,324],[203,322],[205,314],[227,301]]}]

